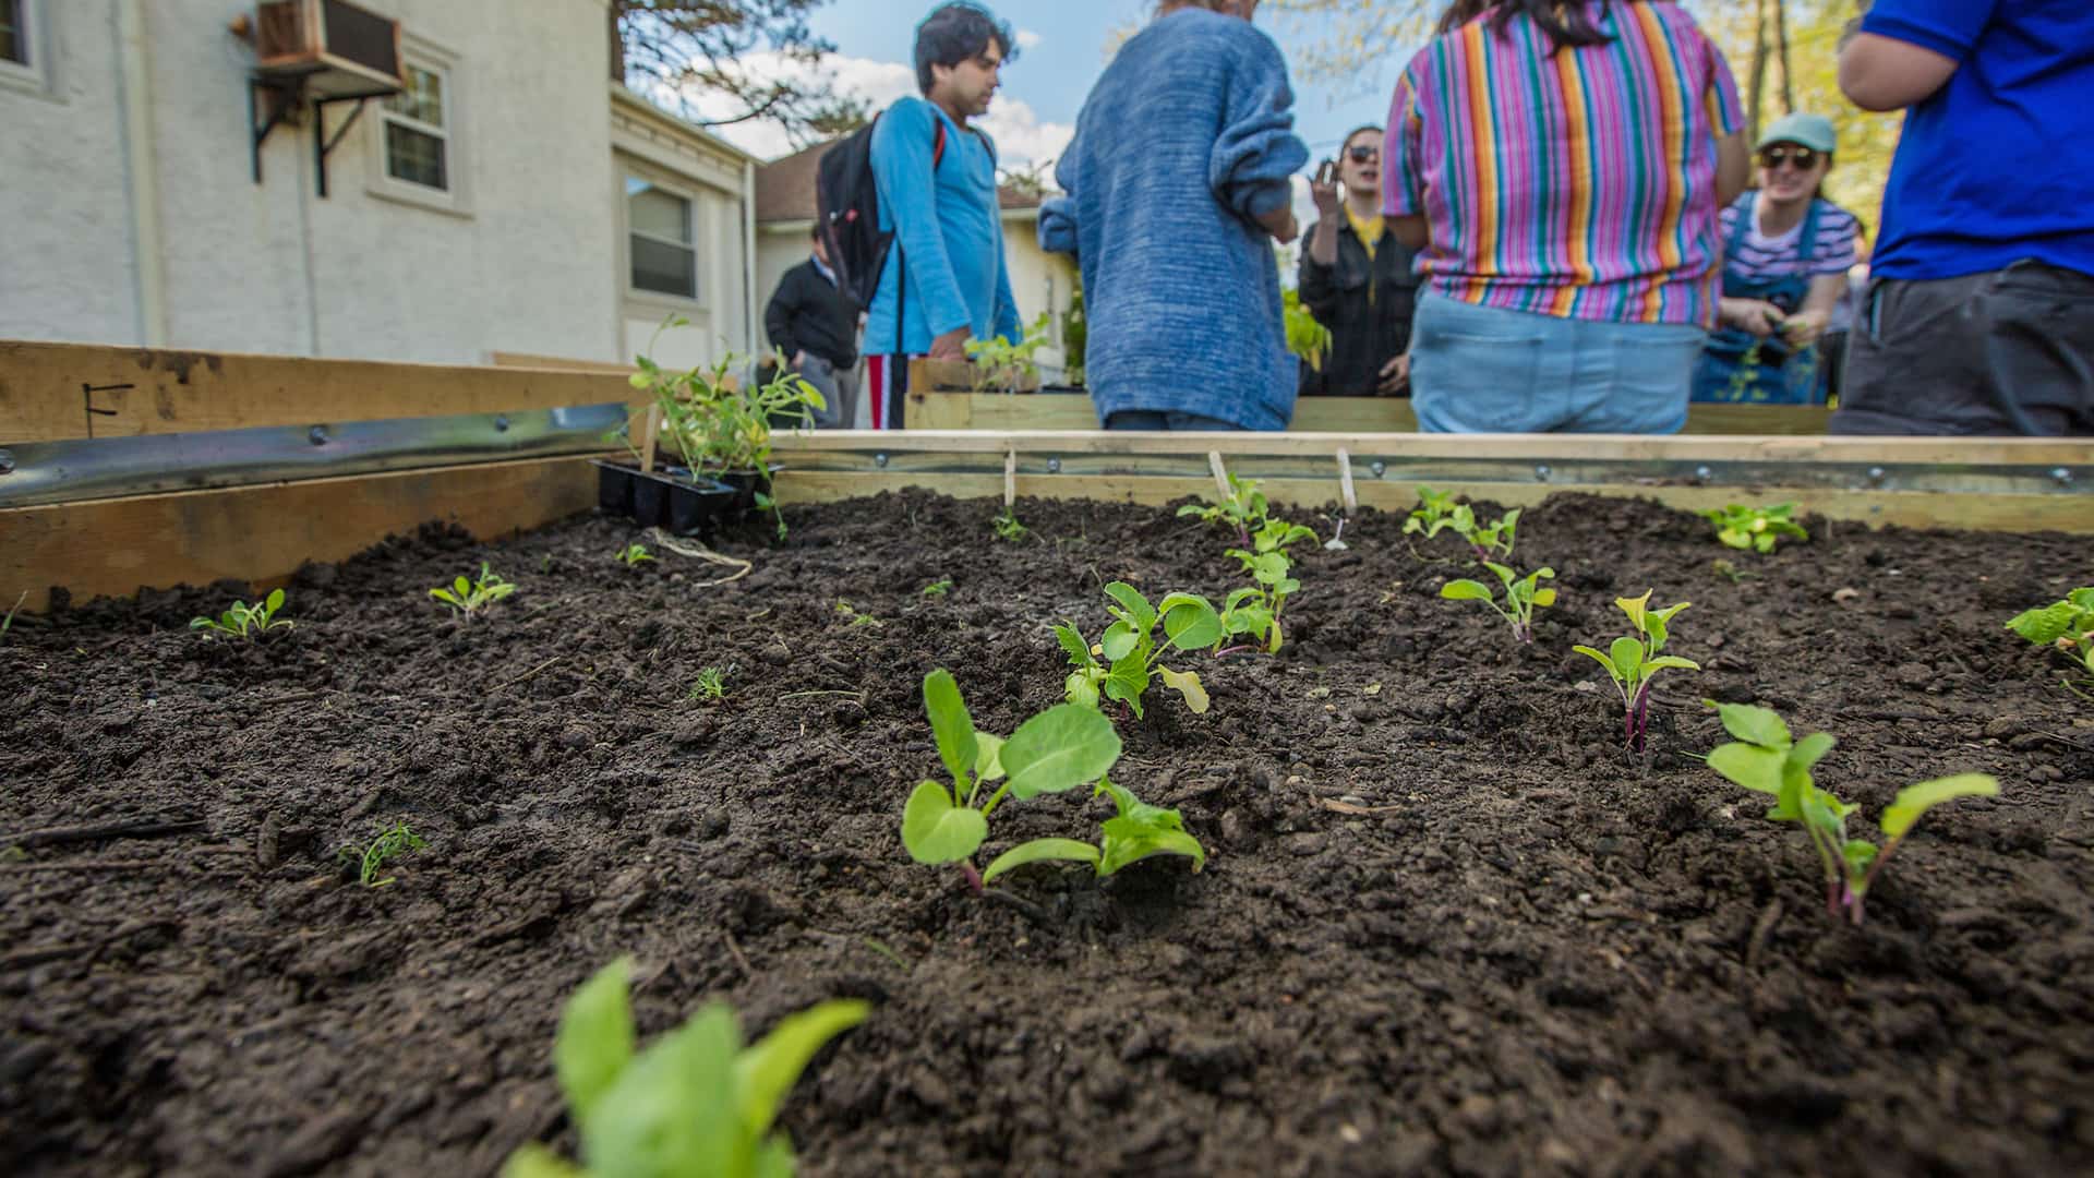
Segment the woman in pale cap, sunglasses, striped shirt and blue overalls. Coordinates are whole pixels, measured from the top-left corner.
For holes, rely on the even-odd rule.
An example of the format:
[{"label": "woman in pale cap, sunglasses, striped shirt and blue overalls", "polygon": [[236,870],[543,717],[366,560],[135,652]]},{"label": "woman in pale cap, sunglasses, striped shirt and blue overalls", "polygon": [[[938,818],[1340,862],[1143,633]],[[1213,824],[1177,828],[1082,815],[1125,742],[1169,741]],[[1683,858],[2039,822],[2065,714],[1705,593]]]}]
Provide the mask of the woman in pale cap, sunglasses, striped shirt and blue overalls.
[{"label": "woman in pale cap, sunglasses, striped shirt and blue overalls", "polygon": [[1820,337],[1847,293],[1862,222],[1824,199],[1832,119],[1784,115],[1759,136],[1759,189],[1721,216],[1723,298],[1694,400],[1824,405]]}]

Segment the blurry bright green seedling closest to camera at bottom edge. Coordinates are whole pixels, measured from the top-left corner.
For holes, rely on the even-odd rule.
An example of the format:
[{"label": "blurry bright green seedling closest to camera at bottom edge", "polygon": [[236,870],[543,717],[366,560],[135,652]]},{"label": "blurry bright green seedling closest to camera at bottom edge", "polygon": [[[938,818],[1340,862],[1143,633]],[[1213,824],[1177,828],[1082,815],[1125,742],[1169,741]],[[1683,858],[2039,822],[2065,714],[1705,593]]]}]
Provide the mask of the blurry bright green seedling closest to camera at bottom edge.
[{"label": "blurry bright green seedling closest to camera at bottom edge", "polygon": [[741,1046],[733,1008],[708,1002],[637,1050],[630,977],[628,958],[597,970],[567,1000],[553,1040],[582,1165],[526,1144],[503,1178],[789,1178],[792,1140],[773,1130],[779,1105],[815,1054],[863,1023],[871,1004],[821,1002]]}]

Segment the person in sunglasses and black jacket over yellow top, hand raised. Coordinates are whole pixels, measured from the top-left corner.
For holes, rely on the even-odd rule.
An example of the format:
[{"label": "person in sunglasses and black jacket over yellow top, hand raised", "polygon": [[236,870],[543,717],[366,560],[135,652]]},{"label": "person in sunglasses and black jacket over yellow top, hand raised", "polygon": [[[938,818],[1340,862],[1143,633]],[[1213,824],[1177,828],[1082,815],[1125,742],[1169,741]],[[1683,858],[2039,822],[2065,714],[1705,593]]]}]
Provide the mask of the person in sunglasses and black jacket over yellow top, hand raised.
[{"label": "person in sunglasses and black jacket over yellow top, hand raised", "polygon": [[1332,172],[1309,184],[1317,222],[1296,277],[1302,306],[1330,329],[1330,352],[1302,363],[1300,392],[1407,396],[1418,254],[1382,220],[1382,128],[1344,136]]}]

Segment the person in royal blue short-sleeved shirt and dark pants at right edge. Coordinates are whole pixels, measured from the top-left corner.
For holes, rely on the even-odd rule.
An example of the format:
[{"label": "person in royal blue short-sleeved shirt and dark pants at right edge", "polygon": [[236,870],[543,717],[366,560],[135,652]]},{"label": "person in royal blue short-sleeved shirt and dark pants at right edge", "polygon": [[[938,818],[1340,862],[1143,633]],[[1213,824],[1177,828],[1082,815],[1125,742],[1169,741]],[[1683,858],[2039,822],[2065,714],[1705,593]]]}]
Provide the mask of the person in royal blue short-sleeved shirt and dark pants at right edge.
[{"label": "person in royal blue short-sleeved shirt and dark pants at right edge", "polygon": [[2094,4],[1876,0],[1841,90],[1906,109],[1834,434],[2094,434]]}]

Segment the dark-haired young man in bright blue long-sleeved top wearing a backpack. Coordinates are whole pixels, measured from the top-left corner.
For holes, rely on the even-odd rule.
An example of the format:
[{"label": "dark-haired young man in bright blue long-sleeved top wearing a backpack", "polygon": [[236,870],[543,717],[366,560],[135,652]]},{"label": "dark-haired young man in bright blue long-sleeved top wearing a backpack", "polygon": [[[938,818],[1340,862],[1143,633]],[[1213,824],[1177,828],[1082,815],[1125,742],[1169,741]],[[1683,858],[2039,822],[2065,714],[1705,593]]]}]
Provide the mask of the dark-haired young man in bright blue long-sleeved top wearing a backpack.
[{"label": "dark-haired young man in bright blue long-sleeved top wearing a backpack", "polygon": [[879,228],[894,231],[865,319],[873,430],[898,430],[909,356],[965,361],[967,340],[1018,342],[1003,258],[997,147],[967,119],[988,113],[1011,27],[978,4],[944,4],[917,25],[921,99],[898,99],[873,128]]}]

